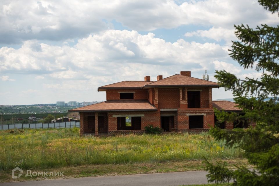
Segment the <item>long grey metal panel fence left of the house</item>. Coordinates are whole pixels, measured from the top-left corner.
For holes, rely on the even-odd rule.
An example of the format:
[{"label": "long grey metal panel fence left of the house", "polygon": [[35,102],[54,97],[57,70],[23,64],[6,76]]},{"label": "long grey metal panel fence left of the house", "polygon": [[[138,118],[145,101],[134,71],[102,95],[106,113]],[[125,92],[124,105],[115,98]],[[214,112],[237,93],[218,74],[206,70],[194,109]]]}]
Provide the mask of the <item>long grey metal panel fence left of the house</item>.
[{"label": "long grey metal panel fence left of the house", "polygon": [[31,124],[6,124],[0,125],[0,130],[8,130],[14,128],[73,128],[79,127],[79,121],[67,121],[57,123],[31,123]]}]

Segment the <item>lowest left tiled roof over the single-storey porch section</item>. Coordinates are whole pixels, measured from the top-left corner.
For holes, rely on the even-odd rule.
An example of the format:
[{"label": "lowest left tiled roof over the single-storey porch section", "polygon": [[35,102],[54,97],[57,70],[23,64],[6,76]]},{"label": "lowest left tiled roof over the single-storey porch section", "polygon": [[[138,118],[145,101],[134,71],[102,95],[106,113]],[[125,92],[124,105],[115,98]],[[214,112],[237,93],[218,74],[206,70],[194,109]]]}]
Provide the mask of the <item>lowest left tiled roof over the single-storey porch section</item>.
[{"label": "lowest left tiled roof over the single-storey porch section", "polygon": [[133,110],[157,110],[146,100],[133,101],[104,101],[93,105],[68,110],[68,112],[94,112],[94,111],[133,111]]}]

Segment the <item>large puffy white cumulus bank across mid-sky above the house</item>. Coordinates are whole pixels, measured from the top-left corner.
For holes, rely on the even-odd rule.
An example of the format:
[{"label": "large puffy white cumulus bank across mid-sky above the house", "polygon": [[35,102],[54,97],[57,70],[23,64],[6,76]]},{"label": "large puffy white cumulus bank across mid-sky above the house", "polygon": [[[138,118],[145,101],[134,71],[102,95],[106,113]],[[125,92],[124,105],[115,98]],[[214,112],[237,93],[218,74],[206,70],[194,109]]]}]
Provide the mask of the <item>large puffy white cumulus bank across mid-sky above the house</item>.
[{"label": "large puffy white cumulus bank across mid-sky above the house", "polygon": [[[0,71],[50,74],[59,79],[86,79],[86,75],[121,74],[137,65],[188,65],[209,68],[209,61],[228,58],[228,51],[218,44],[165,42],[153,33],[108,30],[78,40],[74,47],[52,46],[36,40],[25,41],[21,48],[0,48]],[[164,68],[164,67],[162,67]],[[149,67],[146,68],[148,71]],[[144,71],[139,69],[142,73]],[[126,74],[128,76],[128,74]],[[43,78],[45,76],[37,76]]]}]

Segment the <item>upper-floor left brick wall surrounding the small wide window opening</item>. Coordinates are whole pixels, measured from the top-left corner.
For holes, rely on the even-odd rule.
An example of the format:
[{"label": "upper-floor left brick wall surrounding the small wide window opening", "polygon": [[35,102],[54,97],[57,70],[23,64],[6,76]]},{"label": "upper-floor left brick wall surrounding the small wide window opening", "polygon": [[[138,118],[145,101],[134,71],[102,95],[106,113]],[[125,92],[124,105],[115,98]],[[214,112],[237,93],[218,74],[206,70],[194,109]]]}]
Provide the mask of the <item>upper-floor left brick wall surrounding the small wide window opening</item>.
[{"label": "upper-floor left brick wall surrounding the small wide window opening", "polygon": [[119,100],[120,93],[118,92],[135,92],[134,99],[143,100],[147,99],[147,90],[107,90],[106,91],[106,98],[107,100]]}]

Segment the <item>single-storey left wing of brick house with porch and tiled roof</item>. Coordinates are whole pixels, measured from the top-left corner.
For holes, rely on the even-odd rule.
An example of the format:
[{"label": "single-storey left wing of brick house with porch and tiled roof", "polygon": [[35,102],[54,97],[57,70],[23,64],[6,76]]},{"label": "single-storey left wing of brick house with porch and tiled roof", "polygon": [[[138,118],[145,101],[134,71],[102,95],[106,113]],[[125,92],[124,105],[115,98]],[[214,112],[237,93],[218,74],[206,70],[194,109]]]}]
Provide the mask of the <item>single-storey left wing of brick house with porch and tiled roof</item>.
[{"label": "single-storey left wing of brick house with porch and tiled roof", "polygon": [[158,109],[147,100],[105,101],[68,112],[80,113],[80,135],[142,133],[146,125],[160,125]]}]

